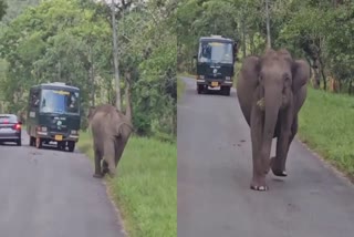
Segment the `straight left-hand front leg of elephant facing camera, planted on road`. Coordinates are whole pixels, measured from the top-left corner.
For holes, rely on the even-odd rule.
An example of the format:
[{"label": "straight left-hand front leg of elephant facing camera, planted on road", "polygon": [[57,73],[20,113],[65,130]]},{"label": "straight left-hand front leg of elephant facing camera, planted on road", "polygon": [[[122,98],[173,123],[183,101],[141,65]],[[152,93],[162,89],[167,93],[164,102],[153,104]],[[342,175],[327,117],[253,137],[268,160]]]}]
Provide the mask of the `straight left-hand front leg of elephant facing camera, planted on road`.
[{"label": "straight left-hand front leg of elephant facing camera, planted on road", "polygon": [[263,131],[263,114],[253,106],[251,112],[251,142],[252,142],[252,165],[253,175],[250,184],[250,188],[254,190],[267,190],[266,172],[263,161],[260,156],[260,150],[262,145],[262,131]]}]

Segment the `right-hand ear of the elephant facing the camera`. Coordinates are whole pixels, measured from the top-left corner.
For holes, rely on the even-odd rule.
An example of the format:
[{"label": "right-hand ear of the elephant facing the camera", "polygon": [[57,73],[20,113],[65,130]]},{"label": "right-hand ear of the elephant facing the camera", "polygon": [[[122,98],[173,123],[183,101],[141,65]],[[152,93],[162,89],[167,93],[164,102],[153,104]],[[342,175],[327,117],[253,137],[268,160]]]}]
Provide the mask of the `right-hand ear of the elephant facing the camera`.
[{"label": "right-hand ear of the elephant facing the camera", "polygon": [[298,92],[303,85],[305,85],[310,79],[310,65],[304,60],[295,60],[293,63],[293,78],[292,89]]}]

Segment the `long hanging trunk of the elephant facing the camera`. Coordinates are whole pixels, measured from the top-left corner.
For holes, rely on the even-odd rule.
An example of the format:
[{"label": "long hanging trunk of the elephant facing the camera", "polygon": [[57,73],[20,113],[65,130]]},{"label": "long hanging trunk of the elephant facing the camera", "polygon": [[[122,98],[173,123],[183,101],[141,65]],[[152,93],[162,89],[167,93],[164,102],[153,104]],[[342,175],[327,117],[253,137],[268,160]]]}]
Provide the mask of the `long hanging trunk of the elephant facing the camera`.
[{"label": "long hanging trunk of the elephant facing the camera", "polygon": [[272,138],[282,103],[281,92],[282,91],[277,87],[277,84],[269,85],[264,89],[264,126],[261,152],[263,158],[270,157]]}]

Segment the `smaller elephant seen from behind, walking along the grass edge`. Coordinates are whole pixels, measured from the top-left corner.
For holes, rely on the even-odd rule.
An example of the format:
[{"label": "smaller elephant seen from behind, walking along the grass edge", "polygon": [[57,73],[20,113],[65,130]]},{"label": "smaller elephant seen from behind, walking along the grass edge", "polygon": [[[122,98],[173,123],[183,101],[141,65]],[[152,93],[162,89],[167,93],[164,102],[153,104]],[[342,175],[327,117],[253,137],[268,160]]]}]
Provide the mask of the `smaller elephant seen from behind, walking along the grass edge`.
[{"label": "smaller elephant seen from behind, walking along the grass edge", "polygon": [[[133,131],[129,117],[118,112],[114,106],[104,104],[90,110],[88,123],[92,130],[95,155],[93,176],[101,178],[105,173],[110,173],[111,177],[114,177],[116,166]],[[103,168],[101,168],[102,159]]]}]

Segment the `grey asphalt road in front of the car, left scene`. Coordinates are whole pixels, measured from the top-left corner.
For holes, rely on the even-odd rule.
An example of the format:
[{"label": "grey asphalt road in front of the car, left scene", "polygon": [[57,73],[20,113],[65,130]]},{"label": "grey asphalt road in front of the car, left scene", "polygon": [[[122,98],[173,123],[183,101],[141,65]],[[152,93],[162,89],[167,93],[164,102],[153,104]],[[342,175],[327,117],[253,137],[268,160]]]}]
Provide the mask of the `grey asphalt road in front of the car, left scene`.
[{"label": "grey asphalt road in front of the car, left scene", "polygon": [[123,237],[104,184],[79,152],[0,145],[1,237]]}]

